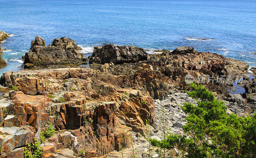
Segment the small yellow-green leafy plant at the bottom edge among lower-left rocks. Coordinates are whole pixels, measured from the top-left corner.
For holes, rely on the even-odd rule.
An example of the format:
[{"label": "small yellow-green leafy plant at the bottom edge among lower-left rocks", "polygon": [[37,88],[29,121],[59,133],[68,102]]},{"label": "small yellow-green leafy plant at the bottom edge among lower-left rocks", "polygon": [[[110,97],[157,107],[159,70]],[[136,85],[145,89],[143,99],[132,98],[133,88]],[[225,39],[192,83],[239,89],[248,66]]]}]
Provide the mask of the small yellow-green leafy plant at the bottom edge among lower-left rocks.
[{"label": "small yellow-green leafy plant at the bottom edge among lower-left rocks", "polygon": [[39,146],[39,142],[36,138],[33,138],[34,142],[29,143],[24,147],[24,158],[41,158],[43,155],[43,149]]}]

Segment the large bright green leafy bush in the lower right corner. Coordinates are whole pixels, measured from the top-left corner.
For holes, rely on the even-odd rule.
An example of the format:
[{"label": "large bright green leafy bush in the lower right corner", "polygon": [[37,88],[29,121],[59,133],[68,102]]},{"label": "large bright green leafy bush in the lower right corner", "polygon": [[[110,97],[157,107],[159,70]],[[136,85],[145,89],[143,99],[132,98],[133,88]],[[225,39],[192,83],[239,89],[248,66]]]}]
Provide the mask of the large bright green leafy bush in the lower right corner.
[{"label": "large bright green leafy bush in the lower right corner", "polygon": [[202,85],[191,83],[188,95],[197,106],[184,103],[188,121],[183,131],[189,136],[169,135],[162,141],[150,140],[153,146],[178,148],[185,157],[256,157],[256,114],[252,117],[228,115],[223,102],[214,98]]}]

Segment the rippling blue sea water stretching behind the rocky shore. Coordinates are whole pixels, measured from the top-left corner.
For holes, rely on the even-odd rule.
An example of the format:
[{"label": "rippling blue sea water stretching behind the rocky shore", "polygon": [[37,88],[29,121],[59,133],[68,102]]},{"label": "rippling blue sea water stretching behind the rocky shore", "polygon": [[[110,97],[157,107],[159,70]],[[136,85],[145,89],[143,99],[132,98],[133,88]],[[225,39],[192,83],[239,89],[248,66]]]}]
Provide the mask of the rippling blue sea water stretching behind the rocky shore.
[{"label": "rippling blue sea water stretching behind the rocky shore", "polygon": [[88,55],[104,43],[149,53],[186,45],[256,66],[255,0],[0,0],[0,13],[0,30],[12,34],[0,74],[22,69],[35,36],[47,45],[71,37]]}]

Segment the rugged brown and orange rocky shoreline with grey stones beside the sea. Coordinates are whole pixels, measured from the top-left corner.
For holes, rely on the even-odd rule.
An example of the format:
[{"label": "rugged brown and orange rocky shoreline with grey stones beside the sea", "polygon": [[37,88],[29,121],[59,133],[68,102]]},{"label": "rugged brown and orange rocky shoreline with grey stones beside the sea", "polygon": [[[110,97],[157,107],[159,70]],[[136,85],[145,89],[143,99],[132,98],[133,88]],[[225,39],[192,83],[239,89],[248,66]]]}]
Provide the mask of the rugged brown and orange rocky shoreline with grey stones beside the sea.
[{"label": "rugged brown and orange rocky shoreline with grey stones beside the sea", "polygon": [[[158,157],[148,152],[146,138],[161,139],[163,120],[171,133],[184,134],[187,115],[180,106],[196,104],[186,93],[188,80],[213,91],[228,114],[256,111],[256,80],[244,61],[185,46],[147,54],[108,44],[95,46],[88,59],[78,50],[70,38],[46,46],[36,36],[26,69],[3,73],[0,84],[12,90],[0,99],[1,157],[23,157],[23,147],[33,138],[41,141],[51,125],[56,131],[40,143],[42,157],[114,158],[122,157],[122,149],[124,157]],[[88,67],[77,66],[88,61]],[[236,81],[244,98],[231,94]]]}]

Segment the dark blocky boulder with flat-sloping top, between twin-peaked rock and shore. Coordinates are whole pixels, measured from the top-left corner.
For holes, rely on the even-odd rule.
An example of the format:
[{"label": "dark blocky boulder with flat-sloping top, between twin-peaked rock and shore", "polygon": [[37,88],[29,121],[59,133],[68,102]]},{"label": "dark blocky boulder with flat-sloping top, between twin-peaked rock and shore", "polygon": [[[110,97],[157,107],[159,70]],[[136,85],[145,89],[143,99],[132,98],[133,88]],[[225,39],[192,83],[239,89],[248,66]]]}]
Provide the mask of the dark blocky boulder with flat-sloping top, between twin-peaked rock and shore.
[{"label": "dark blocky boulder with flat-sloping top, between twin-peaked rock and shore", "polygon": [[[116,44],[107,44],[101,47],[95,46],[92,57],[98,57],[101,64],[110,62],[114,64],[123,64],[147,60],[148,53],[146,53],[146,51],[144,51],[142,48],[134,46],[118,46]],[[90,61],[92,63],[94,60]],[[97,63],[99,63],[99,61],[97,61]]]}]

